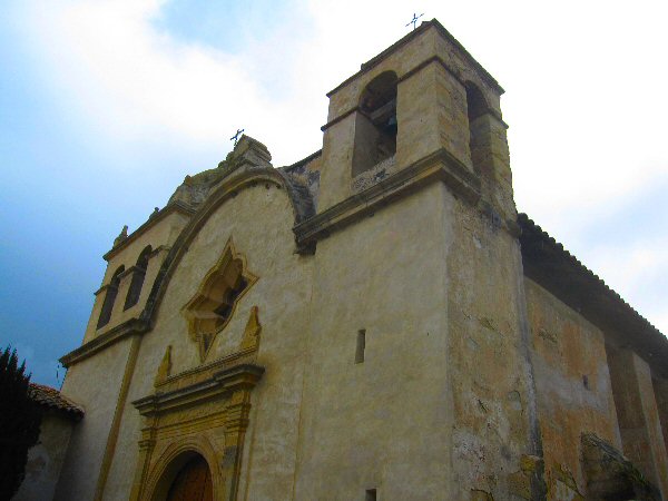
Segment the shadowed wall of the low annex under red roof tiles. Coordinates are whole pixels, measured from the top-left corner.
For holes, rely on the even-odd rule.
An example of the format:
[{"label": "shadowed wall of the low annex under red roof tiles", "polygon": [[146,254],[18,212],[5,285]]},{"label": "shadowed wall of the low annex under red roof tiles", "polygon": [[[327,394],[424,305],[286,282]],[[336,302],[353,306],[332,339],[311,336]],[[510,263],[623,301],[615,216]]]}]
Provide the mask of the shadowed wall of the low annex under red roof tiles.
[{"label": "shadowed wall of the low annex under red roof tiles", "polygon": [[58,411],[42,415],[39,441],[28,451],[26,478],[13,501],[53,499],[73,425],[71,418]]}]

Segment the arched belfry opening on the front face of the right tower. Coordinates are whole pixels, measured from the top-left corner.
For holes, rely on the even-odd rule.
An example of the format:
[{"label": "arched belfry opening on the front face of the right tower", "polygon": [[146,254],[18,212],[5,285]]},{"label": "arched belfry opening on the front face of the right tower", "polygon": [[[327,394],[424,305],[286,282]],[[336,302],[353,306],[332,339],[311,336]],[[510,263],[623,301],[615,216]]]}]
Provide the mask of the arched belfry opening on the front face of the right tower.
[{"label": "arched belfry opening on the front face of the right tower", "polygon": [[355,119],[353,177],[396,153],[396,73],[371,80],[360,98]]}]

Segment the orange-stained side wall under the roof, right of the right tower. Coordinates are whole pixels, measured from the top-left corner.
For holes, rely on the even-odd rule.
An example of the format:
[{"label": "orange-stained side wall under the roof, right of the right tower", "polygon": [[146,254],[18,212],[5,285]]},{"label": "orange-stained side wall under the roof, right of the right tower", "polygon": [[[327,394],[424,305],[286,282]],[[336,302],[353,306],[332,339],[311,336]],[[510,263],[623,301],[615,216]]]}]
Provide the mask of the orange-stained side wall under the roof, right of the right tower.
[{"label": "orange-stained side wall under the roof, right of the right tower", "polygon": [[586,494],[582,433],[621,451],[606,341],[598,327],[537,283],[527,278],[524,289],[549,499],[570,500]]}]

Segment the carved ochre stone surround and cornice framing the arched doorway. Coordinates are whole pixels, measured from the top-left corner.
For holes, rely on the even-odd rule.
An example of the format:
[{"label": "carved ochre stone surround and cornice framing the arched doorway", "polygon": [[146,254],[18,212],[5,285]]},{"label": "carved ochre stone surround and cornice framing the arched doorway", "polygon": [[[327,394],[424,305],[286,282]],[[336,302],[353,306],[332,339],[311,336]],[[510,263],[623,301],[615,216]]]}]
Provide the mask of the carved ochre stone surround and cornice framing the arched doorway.
[{"label": "carved ochre stone surround and cornice framing the arched doorway", "polygon": [[166,499],[175,469],[198,454],[214,499],[237,499],[250,393],[264,367],[240,353],[167,377],[132,404],[143,416],[131,501]]}]

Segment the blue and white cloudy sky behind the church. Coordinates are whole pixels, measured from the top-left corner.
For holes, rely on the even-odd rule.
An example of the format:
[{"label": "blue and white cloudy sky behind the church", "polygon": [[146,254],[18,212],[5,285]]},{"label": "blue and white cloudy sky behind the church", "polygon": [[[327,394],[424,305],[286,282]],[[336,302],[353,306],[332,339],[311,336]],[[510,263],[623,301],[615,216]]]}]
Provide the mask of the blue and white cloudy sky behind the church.
[{"label": "blue and white cloudy sky behind the church", "polygon": [[668,3],[2,0],[0,347],[59,387],[106,262],[244,128],[322,147],[325,94],[436,18],[505,89],[518,209],[668,333]]}]

